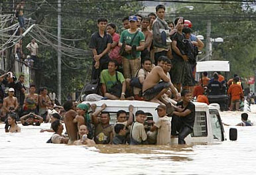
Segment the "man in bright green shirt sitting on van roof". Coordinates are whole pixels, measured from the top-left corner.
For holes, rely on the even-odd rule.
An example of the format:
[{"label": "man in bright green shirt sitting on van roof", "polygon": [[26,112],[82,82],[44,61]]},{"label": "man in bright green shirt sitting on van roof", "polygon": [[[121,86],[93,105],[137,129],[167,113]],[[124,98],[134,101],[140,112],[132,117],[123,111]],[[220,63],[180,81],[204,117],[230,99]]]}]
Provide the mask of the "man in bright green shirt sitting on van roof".
[{"label": "man in bright green shirt sitting on van roof", "polygon": [[[116,70],[117,70],[116,60],[110,60],[107,66],[107,70],[102,70],[101,76],[100,76],[101,78],[100,82],[102,84],[103,95],[108,99],[125,99],[125,90],[126,90],[125,78],[123,78],[123,74],[121,72],[118,72]],[[116,84],[117,80],[122,84],[122,87],[121,87],[122,92],[121,92],[121,96],[119,97],[117,97],[114,94],[111,94],[110,92],[111,87]]]}]

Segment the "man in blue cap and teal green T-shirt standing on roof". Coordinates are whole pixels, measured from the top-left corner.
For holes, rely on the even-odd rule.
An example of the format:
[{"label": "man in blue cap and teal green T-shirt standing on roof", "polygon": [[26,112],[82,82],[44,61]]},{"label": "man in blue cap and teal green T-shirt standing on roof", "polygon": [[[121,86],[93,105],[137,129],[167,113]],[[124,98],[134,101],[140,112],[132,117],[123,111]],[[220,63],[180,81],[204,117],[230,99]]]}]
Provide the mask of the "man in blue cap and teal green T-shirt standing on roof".
[{"label": "man in blue cap and teal green T-shirt standing on roof", "polygon": [[124,42],[126,43],[126,54],[123,55],[123,75],[125,78],[134,77],[137,70],[141,68],[141,51],[145,47],[145,36],[143,32],[137,29],[136,16],[129,17],[129,25],[130,29],[123,30],[119,40],[120,47]]}]

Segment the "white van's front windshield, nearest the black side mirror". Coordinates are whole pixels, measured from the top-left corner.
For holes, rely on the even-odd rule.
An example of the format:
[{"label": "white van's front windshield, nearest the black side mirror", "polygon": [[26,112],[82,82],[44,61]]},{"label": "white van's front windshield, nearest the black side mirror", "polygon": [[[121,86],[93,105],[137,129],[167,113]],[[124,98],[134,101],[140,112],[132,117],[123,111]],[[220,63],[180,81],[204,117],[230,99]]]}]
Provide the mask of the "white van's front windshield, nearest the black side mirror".
[{"label": "white van's front windshield, nearest the black side mirror", "polygon": [[210,110],[210,119],[212,126],[212,134],[217,141],[224,141],[222,133],[222,124],[220,123],[220,114],[217,110]]}]

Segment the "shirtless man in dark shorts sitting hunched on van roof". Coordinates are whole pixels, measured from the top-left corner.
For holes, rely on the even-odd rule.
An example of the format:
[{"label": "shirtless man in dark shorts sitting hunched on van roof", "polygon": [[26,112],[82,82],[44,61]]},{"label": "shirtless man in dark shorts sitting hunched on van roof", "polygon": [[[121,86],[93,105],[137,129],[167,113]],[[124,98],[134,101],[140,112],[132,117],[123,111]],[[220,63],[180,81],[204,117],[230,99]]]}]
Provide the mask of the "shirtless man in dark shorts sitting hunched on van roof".
[{"label": "shirtless man in dark shorts sitting hunched on van roof", "polygon": [[[167,64],[168,61],[170,61],[168,58],[164,58],[162,59],[161,64]],[[162,82],[160,82],[160,80],[162,80]],[[168,101],[162,101],[161,96],[166,93],[169,88],[172,90],[172,93],[174,93],[174,97],[176,97],[177,93],[170,78],[168,78],[161,66],[155,66],[143,83],[143,97],[147,101],[160,104],[163,102],[164,104],[167,104]]]}]

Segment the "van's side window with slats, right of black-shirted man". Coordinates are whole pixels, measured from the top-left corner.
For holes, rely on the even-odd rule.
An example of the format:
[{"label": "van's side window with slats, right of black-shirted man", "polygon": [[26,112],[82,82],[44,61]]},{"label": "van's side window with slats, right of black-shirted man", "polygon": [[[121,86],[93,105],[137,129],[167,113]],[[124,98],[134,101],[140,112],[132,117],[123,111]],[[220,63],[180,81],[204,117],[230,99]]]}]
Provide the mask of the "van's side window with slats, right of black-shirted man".
[{"label": "van's side window with slats, right of black-shirted man", "polygon": [[196,118],[193,128],[193,133],[191,137],[207,137],[207,121],[206,121],[206,112],[197,111]]}]

